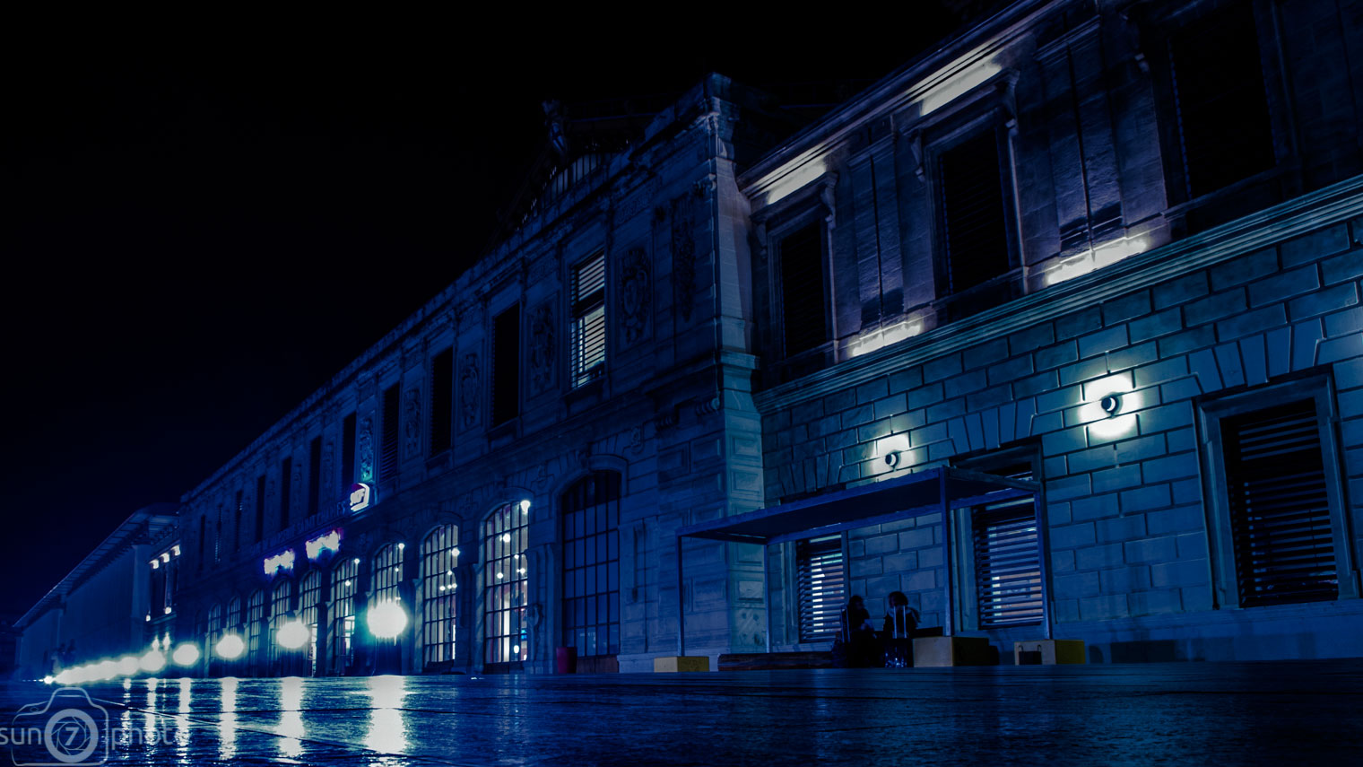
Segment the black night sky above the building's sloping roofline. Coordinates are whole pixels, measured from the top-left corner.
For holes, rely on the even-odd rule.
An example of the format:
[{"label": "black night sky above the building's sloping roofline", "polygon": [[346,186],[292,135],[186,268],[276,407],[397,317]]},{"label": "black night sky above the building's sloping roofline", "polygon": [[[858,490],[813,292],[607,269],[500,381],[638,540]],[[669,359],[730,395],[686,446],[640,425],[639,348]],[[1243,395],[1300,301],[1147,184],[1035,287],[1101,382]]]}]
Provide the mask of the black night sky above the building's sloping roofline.
[{"label": "black night sky above the building's sloping roofline", "polygon": [[0,617],[454,280],[538,147],[542,98],[680,93],[711,70],[871,81],[925,44],[435,31],[10,48]]}]

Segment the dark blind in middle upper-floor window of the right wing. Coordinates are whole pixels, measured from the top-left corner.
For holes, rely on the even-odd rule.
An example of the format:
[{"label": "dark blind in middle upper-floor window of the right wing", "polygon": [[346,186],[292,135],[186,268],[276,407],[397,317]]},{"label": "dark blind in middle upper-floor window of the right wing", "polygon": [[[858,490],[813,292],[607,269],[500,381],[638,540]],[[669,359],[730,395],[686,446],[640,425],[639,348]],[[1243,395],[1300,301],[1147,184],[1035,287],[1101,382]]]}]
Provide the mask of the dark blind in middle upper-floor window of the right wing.
[{"label": "dark blind in middle upper-floor window of the right wing", "polygon": [[999,145],[987,130],[938,158],[947,292],[958,293],[1009,270]]}]

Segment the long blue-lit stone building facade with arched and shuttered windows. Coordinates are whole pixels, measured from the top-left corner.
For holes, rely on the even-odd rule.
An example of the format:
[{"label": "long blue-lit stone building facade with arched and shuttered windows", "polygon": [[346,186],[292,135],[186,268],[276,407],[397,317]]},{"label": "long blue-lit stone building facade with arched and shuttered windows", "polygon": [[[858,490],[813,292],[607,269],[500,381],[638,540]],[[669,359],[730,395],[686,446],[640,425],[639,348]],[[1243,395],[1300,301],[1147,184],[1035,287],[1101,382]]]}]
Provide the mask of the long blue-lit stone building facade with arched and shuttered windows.
[{"label": "long blue-lit stone building facade with arched and shuttered windows", "polygon": [[[176,636],[239,676],[643,670],[679,610],[688,654],[826,648],[901,591],[1005,659],[1363,655],[1360,33],[1021,0],[793,135],[706,78],[185,494]],[[1041,490],[766,573],[676,539],[942,465]]]}]

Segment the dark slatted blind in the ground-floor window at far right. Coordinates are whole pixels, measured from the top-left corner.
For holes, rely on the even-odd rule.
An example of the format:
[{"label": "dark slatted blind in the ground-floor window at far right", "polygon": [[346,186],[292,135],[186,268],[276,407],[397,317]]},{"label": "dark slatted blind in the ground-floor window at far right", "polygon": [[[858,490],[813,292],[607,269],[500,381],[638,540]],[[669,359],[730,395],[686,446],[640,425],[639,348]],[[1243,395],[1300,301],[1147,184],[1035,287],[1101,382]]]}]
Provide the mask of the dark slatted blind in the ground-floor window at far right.
[{"label": "dark slatted blind in the ground-floor window at far right", "polygon": [[1240,605],[1338,596],[1315,403],[1223,420]]}]

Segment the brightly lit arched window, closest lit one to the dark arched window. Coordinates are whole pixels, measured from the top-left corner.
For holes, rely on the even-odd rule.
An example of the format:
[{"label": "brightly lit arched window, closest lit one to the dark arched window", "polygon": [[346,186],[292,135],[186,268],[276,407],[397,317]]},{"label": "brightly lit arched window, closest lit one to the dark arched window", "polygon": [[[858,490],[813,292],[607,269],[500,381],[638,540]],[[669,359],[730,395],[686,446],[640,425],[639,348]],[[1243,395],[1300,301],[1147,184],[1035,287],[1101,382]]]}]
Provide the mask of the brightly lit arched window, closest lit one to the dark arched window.
[{"label": "brightly lit arched window, closest lit one to the dark arched window", "polygon": [[511,663],[530,655],[525,621],[529,504],[507,504],[483,523],[484,662]]}]

